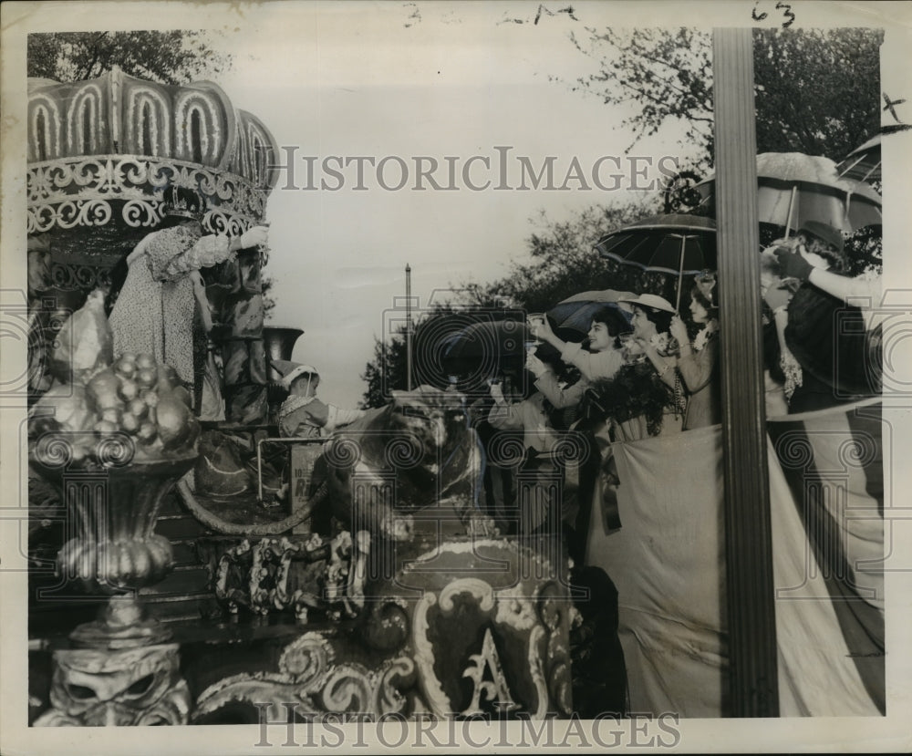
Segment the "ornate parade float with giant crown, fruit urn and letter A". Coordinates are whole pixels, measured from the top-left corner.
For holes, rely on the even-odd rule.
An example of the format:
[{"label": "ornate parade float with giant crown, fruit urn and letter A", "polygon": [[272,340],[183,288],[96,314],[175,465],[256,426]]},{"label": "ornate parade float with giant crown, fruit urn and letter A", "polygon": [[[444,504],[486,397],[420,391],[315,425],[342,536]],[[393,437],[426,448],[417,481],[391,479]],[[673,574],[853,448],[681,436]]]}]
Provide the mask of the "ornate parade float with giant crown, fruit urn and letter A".
[{"label": "ornate parade float with giant crown, fruit urn and letter A", "polygon": [[[29,80],[27,150],[30,721],[256,722],[264,701],[305,718],[569,715],[566,565],[475,517],[451,398],[397,398],[323,451],[313,501],[262,506],[255,459],[284,399],[270,360],[302,333],[264,327],[264,249],[201,271],[223,417],[197,417],[200,379],[114,354],[119,268],[169,191],[202,198],[203,233],[265,222],[264,124],[211,82],[115,68]],[[430,447],[398,422],[429,402],[448,439]],[[329,532],[308,525],[321,506]]]}]

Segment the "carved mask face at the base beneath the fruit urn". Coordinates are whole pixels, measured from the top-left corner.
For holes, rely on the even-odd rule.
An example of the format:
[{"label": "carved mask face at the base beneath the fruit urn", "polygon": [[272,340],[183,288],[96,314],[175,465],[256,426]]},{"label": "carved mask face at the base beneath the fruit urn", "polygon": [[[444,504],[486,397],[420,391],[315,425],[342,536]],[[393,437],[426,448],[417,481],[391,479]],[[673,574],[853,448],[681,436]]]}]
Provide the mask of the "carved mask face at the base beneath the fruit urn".
[{"label": "carved mask face at the base beneath the fruit urn", "polygon": [[51,683],[53,709],[38,726],[186,724],[187,683],[175,644],[120,651],[58,651]]}]

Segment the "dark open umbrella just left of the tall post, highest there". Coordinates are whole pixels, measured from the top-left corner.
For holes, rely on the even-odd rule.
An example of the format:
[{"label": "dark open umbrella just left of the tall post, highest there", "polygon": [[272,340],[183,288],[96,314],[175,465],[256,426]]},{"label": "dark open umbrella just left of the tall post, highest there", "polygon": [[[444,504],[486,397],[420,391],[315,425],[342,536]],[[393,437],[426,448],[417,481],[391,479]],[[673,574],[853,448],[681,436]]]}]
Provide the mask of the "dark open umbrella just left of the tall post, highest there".
[{"label": "dark open umbrella just left of the tall post, highest there", "polygon": [[682,276],[716,268],[716,223],[700,215],[653,215],[606,233],[595,248],[622,264],[677,275],[677,308]]}]

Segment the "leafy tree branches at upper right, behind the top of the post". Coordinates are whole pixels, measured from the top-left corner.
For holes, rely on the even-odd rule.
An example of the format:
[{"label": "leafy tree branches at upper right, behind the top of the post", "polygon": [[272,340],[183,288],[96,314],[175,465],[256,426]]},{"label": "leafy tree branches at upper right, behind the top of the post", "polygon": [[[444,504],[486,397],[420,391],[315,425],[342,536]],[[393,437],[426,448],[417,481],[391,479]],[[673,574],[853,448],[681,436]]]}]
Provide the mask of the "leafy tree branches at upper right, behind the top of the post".
[{"label": "leafy tree branches at upper right, behind the top of the post", "polygon": [[[804,152],[841,160],[880,127],[880,46],[868,28],[755,29],[758,152]],[[709,32],[681,28],[586,27],[572,35],[597,73],[575,89],[606,105],[635,103],[625,125],[634,144],[667,123],[703,148],[712,166],[712,49]],[[632,147],[633,145],[631,145]]]}]

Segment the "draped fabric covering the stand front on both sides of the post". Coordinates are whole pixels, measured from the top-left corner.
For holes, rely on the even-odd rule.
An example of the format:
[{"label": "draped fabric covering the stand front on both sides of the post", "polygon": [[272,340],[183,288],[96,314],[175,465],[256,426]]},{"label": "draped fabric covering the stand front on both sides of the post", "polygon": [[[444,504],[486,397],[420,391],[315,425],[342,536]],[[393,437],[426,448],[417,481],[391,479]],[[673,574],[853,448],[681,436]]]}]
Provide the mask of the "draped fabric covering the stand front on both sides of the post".
[{"label": "draped fabric covering the stand front on both sides of the post", "polygon": [[[884,711],[880,404],[768,423],[782,716]],[[587,562],[617,585],[630,710],[729,712],[719,426],[615,444],[621,529]]]}]

